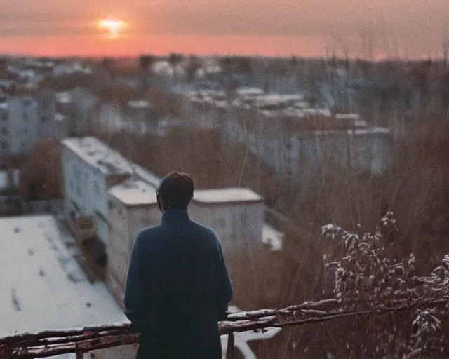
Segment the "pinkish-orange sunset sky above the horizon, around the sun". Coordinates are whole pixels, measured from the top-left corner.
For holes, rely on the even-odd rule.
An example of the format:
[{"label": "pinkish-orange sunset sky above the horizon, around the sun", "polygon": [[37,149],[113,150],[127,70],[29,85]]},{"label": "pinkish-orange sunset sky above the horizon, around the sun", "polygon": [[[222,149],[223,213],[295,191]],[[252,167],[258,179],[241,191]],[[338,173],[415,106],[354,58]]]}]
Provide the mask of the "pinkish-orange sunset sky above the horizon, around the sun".
[{"label": "pinkish-orange sunset sky above the horizon, around the sun", "polygon": [[[109,38],[97,23],[128,24]],[[0,0],[0,52],[438,57],[449,0]]]}]

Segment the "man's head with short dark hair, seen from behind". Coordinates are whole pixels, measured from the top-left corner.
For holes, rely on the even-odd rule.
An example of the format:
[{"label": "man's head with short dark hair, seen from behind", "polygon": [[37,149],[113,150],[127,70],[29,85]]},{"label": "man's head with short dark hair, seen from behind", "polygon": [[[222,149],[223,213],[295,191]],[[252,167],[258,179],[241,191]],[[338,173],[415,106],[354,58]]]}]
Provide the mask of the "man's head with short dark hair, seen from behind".
[{"label": "man's head with short dark hair, seen from behind", "polygon": [[156,191],[158,204],[162,200],[164,210],[185,210],[194,196],[194,181],[182,172],[171,172],[161,179]]}]

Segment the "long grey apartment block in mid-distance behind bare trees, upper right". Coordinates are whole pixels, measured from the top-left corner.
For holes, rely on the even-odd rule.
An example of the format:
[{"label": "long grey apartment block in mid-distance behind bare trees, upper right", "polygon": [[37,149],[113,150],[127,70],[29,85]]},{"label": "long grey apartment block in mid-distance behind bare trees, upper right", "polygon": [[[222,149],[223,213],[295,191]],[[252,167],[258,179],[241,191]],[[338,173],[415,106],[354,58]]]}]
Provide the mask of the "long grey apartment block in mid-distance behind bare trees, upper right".
[{"label": "long grey apartment block in mid-distance behind bare trees, upper right", "polygon": [[311,108],[301,95],[265,95],[246,88],[227,100],[214,90],[191,93],[188,99],[190,123],[207,118],[217,126],[223,147],[245,144],[279,181],[299,188],[299,201],[310,199],[323,170],[382,175],[389,169],[390,130],[367,127],[358,114],[333,114]]}]

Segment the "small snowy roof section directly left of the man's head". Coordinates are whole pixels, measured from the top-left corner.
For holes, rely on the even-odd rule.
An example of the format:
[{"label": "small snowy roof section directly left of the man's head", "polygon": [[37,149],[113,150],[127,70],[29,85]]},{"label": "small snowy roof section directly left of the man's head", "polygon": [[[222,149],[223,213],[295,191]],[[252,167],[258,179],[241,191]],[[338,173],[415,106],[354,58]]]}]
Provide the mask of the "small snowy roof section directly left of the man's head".
[{"label": "small snowy roof section directly left of the man's head", "polygon": [[142,179],[128,179],[128,181],[109,189],[108,193],[125,205],[154,205],[157,203],[156,189]]}]

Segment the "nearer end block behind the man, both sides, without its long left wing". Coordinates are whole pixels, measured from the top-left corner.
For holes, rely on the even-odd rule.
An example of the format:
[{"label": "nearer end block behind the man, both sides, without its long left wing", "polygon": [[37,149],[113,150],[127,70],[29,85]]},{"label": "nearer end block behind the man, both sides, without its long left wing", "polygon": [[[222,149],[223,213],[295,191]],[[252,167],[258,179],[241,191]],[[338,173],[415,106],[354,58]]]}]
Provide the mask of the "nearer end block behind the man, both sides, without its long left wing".
[{"label": "nearer end block behind the man, both sides, without its long left wing", "polygon": [[[116,299],[123,303],[134,238],[142,229],[158,225],[161,213],[155,187],[137,177],[109,189],[108,202],[106,280]],[[236,292],[233,303],[251,308],[256,306],[256,298],[262,302],[262,281],[255,273],[264,252],[263,198],[249,189],[198,190],[189,205],[189,216],[219,236]],[[248,292],[253,295],[248,296]]]}]

